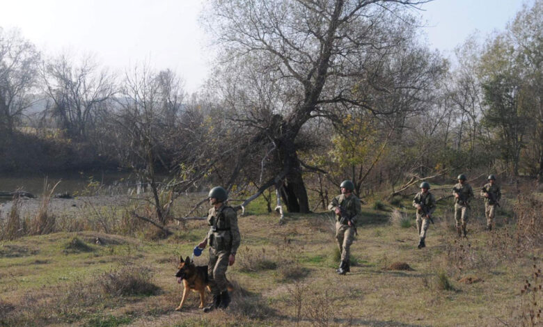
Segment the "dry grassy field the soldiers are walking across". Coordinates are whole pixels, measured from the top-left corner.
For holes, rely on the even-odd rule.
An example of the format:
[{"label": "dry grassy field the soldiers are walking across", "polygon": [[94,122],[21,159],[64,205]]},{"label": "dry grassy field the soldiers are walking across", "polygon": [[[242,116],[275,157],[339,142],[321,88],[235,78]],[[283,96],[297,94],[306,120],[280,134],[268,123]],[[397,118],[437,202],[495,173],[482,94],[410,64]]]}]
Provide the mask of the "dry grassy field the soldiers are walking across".
[{"label": "dry grassy field the soldiers are walking across", "polygon": [[[93,231],[3,241],[0,325],[522,326],[522,314],[541,308],[541,292],[521,289],[526,280],[541,285],[533,273],[543,247],[515,239],[526,234],[504,223],[514,221],[512,201],[503,201],[491,233],[476,205],[468,239],[455,237],[452,205],[441,201],[427,248],[418,250],[410,200],[382,210],[365,203],[347,276],[335,273],[331,214],[287,214],[278,225],[256,201],[239,217],[242,245],[227,273],[233,303],[210,314],[198,310],[197,294],[174,311],[178,258],[203,239],[203,221],[173,223],[173,236],[158,241]],[[206,260],[204,251],[196,263]],[[398,262],[411,269],[391,270]]]}]

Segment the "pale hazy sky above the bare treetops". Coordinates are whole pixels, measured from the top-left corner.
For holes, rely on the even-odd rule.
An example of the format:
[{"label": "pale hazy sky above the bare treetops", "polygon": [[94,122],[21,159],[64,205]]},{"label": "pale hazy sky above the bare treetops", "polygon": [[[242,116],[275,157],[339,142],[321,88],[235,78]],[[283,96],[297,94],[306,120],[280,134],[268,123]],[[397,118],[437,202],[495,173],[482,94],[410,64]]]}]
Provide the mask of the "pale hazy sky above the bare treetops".
[{"label": "pale hazy sky above the bare treetops", "polygon": [[[262,0],[265,1],[265,0]],[[435,0],[420,12],[430,45],[450,51],[478,29],[503,29],[526,0]],[[532,3],[533,0],[528,0]],[[200,0],[0,0],[0,26],[46,53],[92,52],[115,70],[140,61],[180,74],[189,92],[212,60],[198,25]]]}]

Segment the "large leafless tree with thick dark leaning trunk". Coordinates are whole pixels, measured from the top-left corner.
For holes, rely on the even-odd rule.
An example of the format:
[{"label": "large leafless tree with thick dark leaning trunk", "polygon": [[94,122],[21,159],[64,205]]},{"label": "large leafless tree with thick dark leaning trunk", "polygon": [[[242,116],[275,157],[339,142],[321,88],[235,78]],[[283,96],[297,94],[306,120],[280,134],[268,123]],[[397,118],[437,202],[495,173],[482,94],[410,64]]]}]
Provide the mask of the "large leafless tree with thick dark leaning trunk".
[{"label": "large leafless tree with thick dark leaning trunk", "polygon": [[[377,99],[386,97],[393,103],[424,92],[424,83],[434,67],[420,71],[416,85],[388,88],[403,70],[396,76],[382,74],[387,66],[382,65],[386,60],[380,59],[402,51],[414,38],[413,20],[404,9],[425,2],[210,1],[207,21],[222,46],[221,64],[233,67],[233,74],[226,79],[232,82],[226,92],[230,103],[247,104],[243,101],[248,98],[243,84],[251,82],[240,80],[239,74],[248,66],[260,81],[268,79],[267,90],[277,95],[272,104],[253,108],[244,117],[246,125],[258,130],[250,150],[256,145],[273,150],[269,157],[273,156],[276,163],[273,175],[262,182],[260,191],[278,185],[290,212],[309,212],[302,178],[304,163],[299,160],[297,143],[306,122],[316,117],[334,118],[330,110],[333,106],[391,115],[407,108],[379,107],[375,105]],[[237,68],[232,63],[237,63]],[[258,85],[250,86],[254,90]],[[361,90],[366,87],[379,91],[379,97]],[[265,111],[265,117],[257,111]]]}]

